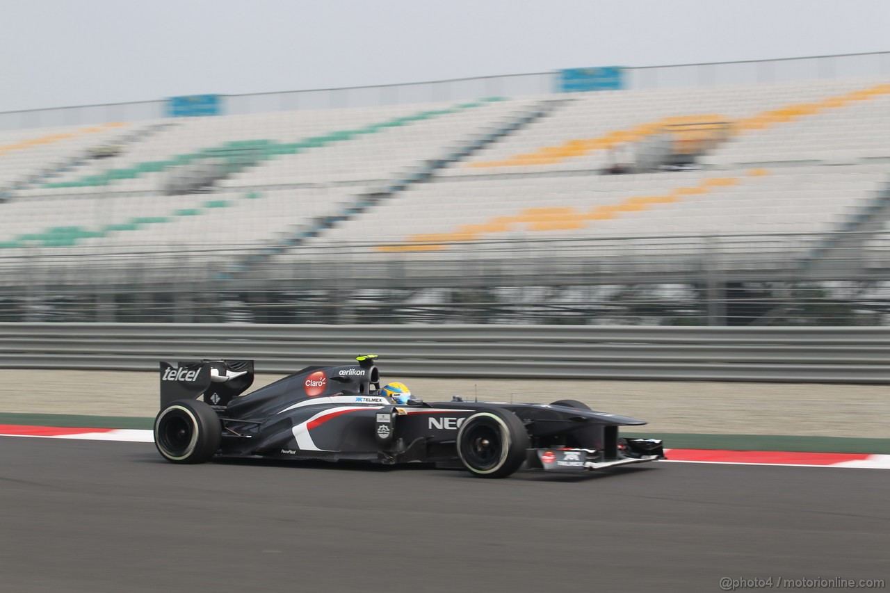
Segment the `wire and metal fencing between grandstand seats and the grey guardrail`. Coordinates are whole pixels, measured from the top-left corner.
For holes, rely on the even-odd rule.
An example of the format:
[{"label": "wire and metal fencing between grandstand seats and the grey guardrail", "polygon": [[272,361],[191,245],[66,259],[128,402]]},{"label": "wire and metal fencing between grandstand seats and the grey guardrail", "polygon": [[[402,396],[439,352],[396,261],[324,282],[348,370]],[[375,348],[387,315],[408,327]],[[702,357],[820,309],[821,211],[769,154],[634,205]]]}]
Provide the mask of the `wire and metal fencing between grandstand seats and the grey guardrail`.
[{"label": "wire and metal fencing between grandstand seats and the grey guardrail", "polygon": [[888,232],[352,243],[235,274],[262,249],[7,249],[0,321],[886,325],[888,246]]}]

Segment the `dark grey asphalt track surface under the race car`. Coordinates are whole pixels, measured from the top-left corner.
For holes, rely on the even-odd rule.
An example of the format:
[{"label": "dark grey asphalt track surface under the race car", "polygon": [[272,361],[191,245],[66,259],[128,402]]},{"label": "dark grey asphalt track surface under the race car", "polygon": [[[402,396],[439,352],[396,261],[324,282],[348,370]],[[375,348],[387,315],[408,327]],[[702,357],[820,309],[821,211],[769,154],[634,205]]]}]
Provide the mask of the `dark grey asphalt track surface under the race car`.
[{"label": "dark grey asphalt track surface under the race car", "polygon": [[[0,437],[0,591],[719,591],[890,581],[890,472],[576,476],[267,462]],[[791,590],[773,588],[773,590]]]}]

